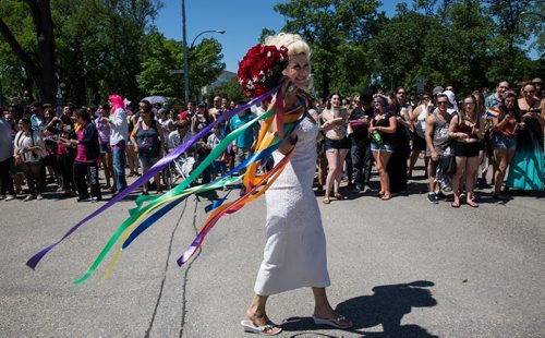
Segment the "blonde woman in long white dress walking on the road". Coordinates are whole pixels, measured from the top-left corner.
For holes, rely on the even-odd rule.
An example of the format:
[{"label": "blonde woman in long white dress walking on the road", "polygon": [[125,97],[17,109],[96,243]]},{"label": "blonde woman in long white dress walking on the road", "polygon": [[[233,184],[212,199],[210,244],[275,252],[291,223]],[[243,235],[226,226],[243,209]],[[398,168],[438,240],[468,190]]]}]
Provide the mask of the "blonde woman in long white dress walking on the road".
[{"label": "blonde woman in long white dress walking on the road", "polygon": [[[269,37],[266,45],[288,48],[289,64],[284,70],[286,111],[301,109],[311,73],[308,45],[299,35],[280,33]],[[311,287],[314,294],[313,319],[316,324],[349,328],[350,321],[340,316],[329,304],[325,288],[330,285],[327,271],[326,239],[318,204],[312,191],[316,169],[316,141],[335,128],[341,118],[329,120],[318,128],[306,117],[298,129],[274,153],[275,162],[292,148],[293,156],[267,190],[267,243],[257,274],[255,297],[246,311],[249,321],[241,324],[245,331],[277,335],[282,329],[275,325],[265,311],[271,294]]]}]

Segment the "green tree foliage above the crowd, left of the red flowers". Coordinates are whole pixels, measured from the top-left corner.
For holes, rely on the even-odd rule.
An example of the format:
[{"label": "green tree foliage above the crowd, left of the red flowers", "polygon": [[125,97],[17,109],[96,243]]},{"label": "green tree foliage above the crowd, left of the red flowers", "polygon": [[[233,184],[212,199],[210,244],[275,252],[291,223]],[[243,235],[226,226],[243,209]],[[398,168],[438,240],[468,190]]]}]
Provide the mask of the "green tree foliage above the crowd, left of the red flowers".
[{"label": "green tree foliage above the crowd, left of the red flowers", "polygon": [[[34,1],[2,0],[0,17],[28,59],[40,65],[36,29],[26,2]],[[63,101],[78,106],[104,102],[111,93],[133,100],[147,95],[180,95],[183,75],[171,75],[170,71],[183,68],[183,48],[154,27],[161,7],[158,0],[51,0],[56,58],[50,69],[63,90],[57,92],[55,85],[52,100],[58,93],[63,94]],[[204,39],[189,51],[193,96],[198,87],[216,80],[225,68],[221,59],[221,46],[215,39]],[[1,88],[20,99],[26,90],[28,100],[43,85],[24,61],[5,38],[0,38]],[[60,97],[57,100],[60,102]],[[45,101],[51,101],[51,97]]]}]

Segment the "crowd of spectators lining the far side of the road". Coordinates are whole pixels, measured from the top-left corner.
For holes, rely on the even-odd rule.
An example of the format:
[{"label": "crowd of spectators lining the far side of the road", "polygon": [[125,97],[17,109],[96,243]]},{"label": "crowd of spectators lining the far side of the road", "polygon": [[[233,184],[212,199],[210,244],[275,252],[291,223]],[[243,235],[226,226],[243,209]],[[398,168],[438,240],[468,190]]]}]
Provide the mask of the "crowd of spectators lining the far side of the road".
[{"label": "crowd of spectators lining the far side of the road", "polygon": [[[475,189],[486,186],[500,202],[511,198],[510,190],[543,190],[541,79],[520,87],[501,81],[492,93],[462,92],[458,96],[452,86],[420,94],[404,87],[389,95],[364,89],[350,98],[334,94],[315,101],[311,113],[319,124],[339,121],[316,145],[315,185],[324,193],[324,204],[348,193],[389,201],[408,191],[422,157],[427,201],[433,204],[451,192],[452,207],[462,202],[479,207]],[[111,95],[108,104],[96,108],[38,101],[5,107],[0,119],[0,198],[101,201],[105,194],[124,190],[126,177],[146,172],[166,153],[243,104],[215,97],[211,105],[189,102],[181,111],[147,100],[126,105]],[[264,107],[252,107],[218,124],[180,156],[178,178],[186,178],[227,134],[262,111]],[[258,125],[241,133],[199,182],[210,182],[249,158],[257,133]],[[376,186],[371,181],[374,167]],[[165,184],[157,174],[142,193],[161,194]]]}]

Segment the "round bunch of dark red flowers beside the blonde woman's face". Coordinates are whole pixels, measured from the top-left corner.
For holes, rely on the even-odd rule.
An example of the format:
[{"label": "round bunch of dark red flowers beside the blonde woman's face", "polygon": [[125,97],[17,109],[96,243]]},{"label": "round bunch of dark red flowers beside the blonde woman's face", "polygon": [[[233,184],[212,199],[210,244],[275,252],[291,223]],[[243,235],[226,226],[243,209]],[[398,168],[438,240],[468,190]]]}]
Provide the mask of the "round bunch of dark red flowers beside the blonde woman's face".
[{"label": "round bunch of dark red flowers beside the blonde woman's face", "polygon": [[288,48],[262,46],[250,48],[239,63],[239,83],[245,97],[257,97],[274,88],[288,67]]}]

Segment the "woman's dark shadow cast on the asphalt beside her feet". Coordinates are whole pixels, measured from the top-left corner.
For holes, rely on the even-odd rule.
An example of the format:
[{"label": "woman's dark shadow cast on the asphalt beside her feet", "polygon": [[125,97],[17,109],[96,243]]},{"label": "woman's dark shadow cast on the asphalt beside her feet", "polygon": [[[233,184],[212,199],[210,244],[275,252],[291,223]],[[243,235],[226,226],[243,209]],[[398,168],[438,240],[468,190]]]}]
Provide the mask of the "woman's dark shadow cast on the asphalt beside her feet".
[{"label": "woman's dark shadow cast on the asphalt beside her feet", "polygon": [[[426,289],[433,286],[432,281],[417,280],[409,283],[374,287],[374,294],[347,300],[338,304],[336,311],[353,322],[354,326],[349,331],[360,334],[362,337],[437,337],[419,325],[401,325],[401,319],[411,312],[412,307],[429,307],[437,304],[432,292]],[[377,325],[383,326],[383,333],[361,330]],[[312,317],[291,317],[284,319],[282,324],[284,331],[305,331],[317,328],[329,327],[317,327]],[[322,337],[334,337],[314,334]]]}]

